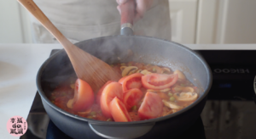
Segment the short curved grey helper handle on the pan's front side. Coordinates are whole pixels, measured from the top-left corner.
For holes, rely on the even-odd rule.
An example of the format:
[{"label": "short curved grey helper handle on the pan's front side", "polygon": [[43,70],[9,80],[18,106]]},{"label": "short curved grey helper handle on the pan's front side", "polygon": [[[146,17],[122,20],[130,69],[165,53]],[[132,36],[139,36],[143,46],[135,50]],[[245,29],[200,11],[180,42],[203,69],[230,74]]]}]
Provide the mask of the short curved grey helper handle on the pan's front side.
[{"label": "short curved grey helper handle on the pan's front side", "polygon": [[154,123],[141,125],[96,125],[89,123],[90,129],[97,135],[105,138],[137,138],[148,133],[154,126]]}]

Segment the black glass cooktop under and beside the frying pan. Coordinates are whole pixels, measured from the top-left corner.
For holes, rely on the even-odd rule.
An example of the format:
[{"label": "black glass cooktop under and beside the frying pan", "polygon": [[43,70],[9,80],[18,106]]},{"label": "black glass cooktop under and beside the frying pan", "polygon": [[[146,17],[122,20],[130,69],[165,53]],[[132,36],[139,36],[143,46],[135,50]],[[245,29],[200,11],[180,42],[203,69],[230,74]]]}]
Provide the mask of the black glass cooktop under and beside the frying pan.
[{"label": "black glass cooktop under and beside the frying pan", "polygon": [[[53,50],[51,54],[57,52]],[[212,88],[201,116],[189,129],[174,138],[251,139],[256,136],[256,105],[253,80],[256,51],[201,50],[212,69]],[[71,138],[49,120],[41,98],[36,94],[27,118],[28,130],[20,139]],[[173,138],[165,135],[165,138]],[[91,135],[92,138],[101,138]],[[152,138],[155,138],[152,136]]]}]

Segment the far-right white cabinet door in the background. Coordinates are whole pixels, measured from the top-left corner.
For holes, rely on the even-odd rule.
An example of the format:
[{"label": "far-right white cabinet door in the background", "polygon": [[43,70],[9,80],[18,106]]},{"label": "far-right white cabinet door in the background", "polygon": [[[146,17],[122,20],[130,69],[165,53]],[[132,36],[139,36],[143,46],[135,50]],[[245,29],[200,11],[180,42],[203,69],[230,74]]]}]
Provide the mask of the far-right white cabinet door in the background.
[{"label": "far-right white cabinet door in the background", "polygon": [[255,0],[199,0],[195,43],[256,43]]}]

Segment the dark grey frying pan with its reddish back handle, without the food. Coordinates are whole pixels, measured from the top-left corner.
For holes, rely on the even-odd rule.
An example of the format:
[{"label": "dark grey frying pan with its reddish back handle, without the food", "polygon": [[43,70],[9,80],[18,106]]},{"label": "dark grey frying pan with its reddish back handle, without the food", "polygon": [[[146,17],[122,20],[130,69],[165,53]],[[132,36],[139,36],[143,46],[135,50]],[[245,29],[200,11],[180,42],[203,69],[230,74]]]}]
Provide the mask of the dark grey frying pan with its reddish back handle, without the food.
[{"label": "dark grey frying pan with its reddish back handle, without the food", "polygon": [[[125,11],[133,10],[124,7]],[[164,117],[133,122],[91,120],[70,114],[49,101],[49,95],[62,81],[74,75],[67,53],[62,49],[49,57],[38,70],[37,86],[50,120],[73,138],[164,138],[166,133],[177,136],[201,114],[212,86],[212,72],[198,53],[176,42],[154,37],[133,36],[131,12],[123,12],[120,36],[103,36],[75,45],[108,64],[137,61],[157,64],[183,71],[187,79],[200,88],[200,97],[186,108]],[[129,53],[128,53],[129,52]],[[131,53],[132,52],[132,53]]]}]

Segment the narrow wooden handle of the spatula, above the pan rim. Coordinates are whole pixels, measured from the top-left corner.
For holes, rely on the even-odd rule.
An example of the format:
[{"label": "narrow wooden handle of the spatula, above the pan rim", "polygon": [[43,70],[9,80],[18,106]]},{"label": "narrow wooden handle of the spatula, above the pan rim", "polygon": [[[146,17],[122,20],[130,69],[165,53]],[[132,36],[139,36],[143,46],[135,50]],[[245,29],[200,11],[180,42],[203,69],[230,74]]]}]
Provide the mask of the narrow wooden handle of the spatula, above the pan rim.
[{"label": "narrow wooden handle of the spatula, above the pan rim", "polygon": [[36,19],[41,22],[42,25],[53,35],[55,38],[61,42],[62,46],[67,49],[73,46],[73,43],[68,41],[65,36],[53,25],[45,14],[38,8],[37,4],[32,0],[17,0],[21,5],[23,5]]}]

